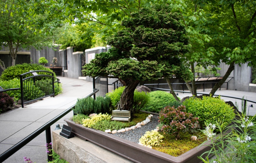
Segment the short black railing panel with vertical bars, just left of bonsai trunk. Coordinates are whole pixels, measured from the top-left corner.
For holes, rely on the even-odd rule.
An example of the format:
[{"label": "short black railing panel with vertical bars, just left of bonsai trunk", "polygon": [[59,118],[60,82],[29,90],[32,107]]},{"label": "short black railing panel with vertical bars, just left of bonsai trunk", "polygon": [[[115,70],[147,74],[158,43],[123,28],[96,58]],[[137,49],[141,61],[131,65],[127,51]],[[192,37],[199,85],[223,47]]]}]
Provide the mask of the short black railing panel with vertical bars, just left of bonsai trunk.
[{"label": "short black railing panel with vertical bars, just left of bonsai trunk", "polygon": [[93,89],[99,89],[99,92],[95,96],[105,96],[108,93],[108,77],[107,76],[98,76],[93,78]]}]

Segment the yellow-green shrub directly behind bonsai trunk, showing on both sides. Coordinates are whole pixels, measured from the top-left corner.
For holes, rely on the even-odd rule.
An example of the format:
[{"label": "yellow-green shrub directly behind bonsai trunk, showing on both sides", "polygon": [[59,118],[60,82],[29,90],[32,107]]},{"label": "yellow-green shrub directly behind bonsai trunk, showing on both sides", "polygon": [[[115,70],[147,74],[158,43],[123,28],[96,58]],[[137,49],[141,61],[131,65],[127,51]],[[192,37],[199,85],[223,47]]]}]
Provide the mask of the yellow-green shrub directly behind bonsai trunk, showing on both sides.
[{"label": "yellow-green shrub directly behind bonsai trunk, showing on both sides", "polygon": [[[120,101],[121,95],[124,91],[124,87],[119,87],[115,89],[113,92],[107,93],[107,95],[111,99],[111,106],[113,108],[116,107],[117,103]],[[145,92],[134,91],[133,96],[133,107],[131,108],[131,114],[138,113],[146,103],[149,101],[149,96]]]}]

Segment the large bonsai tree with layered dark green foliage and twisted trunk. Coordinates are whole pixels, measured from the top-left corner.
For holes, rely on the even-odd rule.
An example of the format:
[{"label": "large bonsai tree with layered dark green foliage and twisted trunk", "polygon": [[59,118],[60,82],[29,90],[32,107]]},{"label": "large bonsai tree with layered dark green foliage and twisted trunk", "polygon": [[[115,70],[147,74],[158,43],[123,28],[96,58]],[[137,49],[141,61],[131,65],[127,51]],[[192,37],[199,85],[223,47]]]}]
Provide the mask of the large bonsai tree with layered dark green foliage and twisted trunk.
[{"label": "large bonsai tree with layered dark green foliage and twisted trunk", "polygon": [[171,6],[158,4],[133,12],[122,22],[123,30],[107,38],[112,48],[95,55],[83,66],[86,76],[119,78],[126,87],[117,109],[130,110],[133,92],[140,81],[176,78],[190,81],[192,73],[176,55],[187,53],[191,47],[180,16]]}]

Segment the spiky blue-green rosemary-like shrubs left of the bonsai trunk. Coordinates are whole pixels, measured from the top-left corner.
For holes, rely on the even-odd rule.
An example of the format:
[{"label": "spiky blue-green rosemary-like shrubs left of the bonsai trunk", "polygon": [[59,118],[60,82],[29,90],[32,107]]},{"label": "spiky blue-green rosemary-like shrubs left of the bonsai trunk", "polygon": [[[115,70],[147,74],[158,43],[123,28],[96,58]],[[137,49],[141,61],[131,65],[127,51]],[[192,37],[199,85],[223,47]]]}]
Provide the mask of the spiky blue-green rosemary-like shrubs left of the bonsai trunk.
[{"label": "spiky blue-green rosemary-like shrubs left of the bonsai trunk", "polygon": [[109,113],[110,98],[97,97],[96,101],[92,97],[77,99],[74,114],[90,115],[91,113]]}]

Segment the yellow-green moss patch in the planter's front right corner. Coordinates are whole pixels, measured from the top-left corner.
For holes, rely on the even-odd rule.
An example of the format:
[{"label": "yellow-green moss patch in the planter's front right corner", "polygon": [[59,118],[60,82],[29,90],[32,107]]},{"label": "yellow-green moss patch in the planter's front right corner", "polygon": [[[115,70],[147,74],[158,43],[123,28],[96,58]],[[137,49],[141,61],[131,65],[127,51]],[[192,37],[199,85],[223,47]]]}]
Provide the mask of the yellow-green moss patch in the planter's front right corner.
[{"label": "yellow-green moss patch in the planter's front right corner", "polygon": [[[188,152],[189,150],[195,148],[196,146],[202,144],[206,137],[199,138],[203,135],[203,133],[197,132],[189,133],[189,132],[180,132],[180,140],[176,140],[176,136],[174,134],[164,134],[163,132],[159,132],[164,136],[163,142],[160,142],[160,145],[152,147],[160,152],[164,152],[170,154],[172,156],[180,156],[181,154]],[[191,136],[197,136],[197,140],[190,140]]]}]

